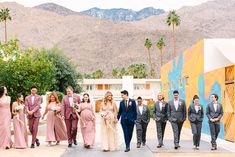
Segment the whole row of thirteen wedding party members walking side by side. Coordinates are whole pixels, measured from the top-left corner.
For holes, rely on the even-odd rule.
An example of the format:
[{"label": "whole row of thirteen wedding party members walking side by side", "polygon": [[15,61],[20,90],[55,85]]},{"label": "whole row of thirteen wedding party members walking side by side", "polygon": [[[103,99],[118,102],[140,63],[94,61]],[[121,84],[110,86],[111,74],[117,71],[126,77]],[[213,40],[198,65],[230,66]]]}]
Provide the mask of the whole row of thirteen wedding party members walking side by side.
[{"label": "whole row of thirteen wedding party members walking side by side", "polygon": [[[37,138],[40,118],[46,116],[46,142],[48,146],[58,145],[61,141],[68,141],[68,147],[77,145],[78,122],[80,123],[83,146],[89,149],[94,146],[96,133],[96,115],[88,93],[83,97],[73,92],[73,88],[66,88],[66,95],[59,101],[56,92],[48,95],[43,115],[40,112],[41,96],[37,95],[38,88],[31,87],[31,95],[25,99],[22,94],[17,95],[16,102],[10,108],[11,98],[7,96],[7,88],[0,87],[0,148],[27,148],[28,129],[32,135],[30,148],[40,146]],[[179,92],[173,91],[173,99],[165,101],[161,93],[154,103],[153,119],[156,122],[157,148],[164,147],[163,139],[167,121],[170,122],[174,135],[174,149],[180,148],[182,126],[188,117],[193,134],[194,149],[198,150],[201,139],[202,121],[204,119],[203,105],[199,104],[199,97],[195,95],[188,109],[185,100],[179,98]],[[101,116],[101,150],[104,152],[118,150],[117,124],[120,120],[125,152],[130,151],[130,143],[134,127],[136,127],[137,148],[146,145],[146,132],[150,121],[150,109],[143,104],[139,96],[137,100],[129,97],[128,91],[121,91],[122,100],[119,108],[113,100],[110,91],[106,92],[100,106]],[[136,104],[137,102],[137,104]],[[223,116],[223,106],[218,102],[218,95],[211,95],[211,102],[206,107],[208,126],[211,134],[211,150],[217,149],[216,140],[220,132],[220,120]],[[13,115],[14,142],[11,139],[11,116]],[[188,116],[187,116],[188,115]],[[27,120],[27,122],[26,122]]]}]

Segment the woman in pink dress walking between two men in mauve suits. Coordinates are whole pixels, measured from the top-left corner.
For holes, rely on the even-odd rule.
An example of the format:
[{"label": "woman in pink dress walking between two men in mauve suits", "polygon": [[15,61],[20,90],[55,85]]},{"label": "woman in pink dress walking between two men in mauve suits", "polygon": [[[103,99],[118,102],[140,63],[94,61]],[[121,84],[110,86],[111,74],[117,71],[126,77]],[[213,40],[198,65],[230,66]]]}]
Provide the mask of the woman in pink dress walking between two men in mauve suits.
[{"label": "woman in pink dress walking between two men in mauve suits", "polygon": [[56,92],[52,92],[48,97],[48,104],[42,117],[44,119],[47,114],[46,141],[48,146],[51,146],[52,142],[56,142],[56,145],[58,145],[60,141],[68,139],[65,123],[60,115],[60,111],[59,98]]}]

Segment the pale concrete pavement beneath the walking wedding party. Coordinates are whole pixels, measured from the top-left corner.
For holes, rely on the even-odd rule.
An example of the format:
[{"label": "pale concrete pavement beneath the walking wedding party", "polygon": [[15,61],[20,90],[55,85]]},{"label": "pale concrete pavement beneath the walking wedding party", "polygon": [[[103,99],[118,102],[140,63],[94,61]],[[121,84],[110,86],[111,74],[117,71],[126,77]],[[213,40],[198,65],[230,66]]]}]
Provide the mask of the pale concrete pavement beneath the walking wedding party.
[{"label": "pale concrete pavement beneath the walking wedding party", "polygon": [[[227,142],[225,140],[218,140],[218,150],[211,151],[210,150],[210,136],[202,135],[201,147],[200,150],[194,150],[192,144],[192,134],[190,129],[183,128],[181,135],[181,148],[178,150],[173,149],[173,133],[171,129],[171,125],[168,123],[165,133],[165,146],[161,149],[156,148],[157,145],[157,135],[156,135],[156,126],[155,122],[151,120],[148,126],[147,132],[147,145],[145,147],[141,147],[139,149],[136,148],[136,133],[133,134],[131,151],[128,153],[124,152],[124,138],[121,129],[121,125],[118,124],[118,135],[119,135],[119,150],[115,152],[102,152],[100,148],[100,122],[99,115],[97,114],[97,122],[96,122],[96,144],[92,149],[83,148],[82,137],[80,129],[78,131],[78,146],[74,146],[73,148],[67,148],[67,141],[61,142],[60,145],[48,147],[45,142],[45,124],[42,124],[39,128],[39,139],[41,142],[41,146],[35,149],[10,149],[10,150],[0,150],[0,157],[15,157],[15,156],[24,156],[24,157],[87,157],[90,156],[146,156],[146,157],[180,157],[180,156],[208,156],[208,157],[217,157],[226,155],[228,157],[235,155],[235,143]],[[134,130],[135,131],[135,130]],[[13,139],[13,138],[12,138]],[[29,136],[29,141],[31,140],[31,136]],[[30,143],[30,142],[29,142]]]}]

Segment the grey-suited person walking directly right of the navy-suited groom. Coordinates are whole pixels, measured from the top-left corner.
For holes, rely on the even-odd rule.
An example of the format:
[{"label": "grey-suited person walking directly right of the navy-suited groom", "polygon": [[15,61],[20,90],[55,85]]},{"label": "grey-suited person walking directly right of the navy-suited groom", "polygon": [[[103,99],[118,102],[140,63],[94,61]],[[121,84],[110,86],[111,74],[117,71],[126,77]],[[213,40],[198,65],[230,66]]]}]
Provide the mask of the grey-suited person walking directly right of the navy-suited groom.
[{"label": "grey-suited person walking directly right of the navy-suited groom", "polygon": [[141,97],[137,98],[137,119],[136,119],[136,135],[137,148],[140,148],[141,143],[145,146],[146,132],[150,120],[150,110],[147,105],[143,104]]}]

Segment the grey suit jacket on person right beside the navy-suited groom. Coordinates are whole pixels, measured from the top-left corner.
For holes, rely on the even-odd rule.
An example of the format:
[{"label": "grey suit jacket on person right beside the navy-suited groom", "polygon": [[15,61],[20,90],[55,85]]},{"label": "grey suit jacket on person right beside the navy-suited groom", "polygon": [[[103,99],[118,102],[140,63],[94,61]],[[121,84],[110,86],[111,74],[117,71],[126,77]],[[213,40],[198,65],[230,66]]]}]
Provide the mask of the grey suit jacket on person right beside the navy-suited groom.
[{"label": "grey suit jacket on person right beside the navy-suited groom", "polygon": [[140,113],[138,105],[136,106],[136,110],[137,110],[136,123],[140,123],[141,121],[143,121],[144,123],[149,123],[149,120],[150,120],[150,110],[149,110],[148,106],[143,104],[143,112],[142,112],[142,114]]}]

